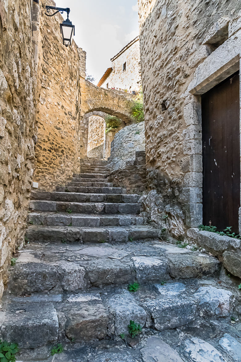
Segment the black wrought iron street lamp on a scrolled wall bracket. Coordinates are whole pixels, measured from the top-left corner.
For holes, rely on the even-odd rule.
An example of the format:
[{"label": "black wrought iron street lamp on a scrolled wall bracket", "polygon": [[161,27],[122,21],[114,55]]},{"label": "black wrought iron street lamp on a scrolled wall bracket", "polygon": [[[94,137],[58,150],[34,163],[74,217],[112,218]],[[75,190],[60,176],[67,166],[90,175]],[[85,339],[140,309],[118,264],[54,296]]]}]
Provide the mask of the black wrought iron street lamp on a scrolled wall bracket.
[{"label": "black wrought iron street lamp on a scrolled wall bracket", "polygon": [[[63,38],[63,44],[66,47],[71,45],[74,36],[74,25],[69,20],[70,9],[56,8],[55,6],[48,6],[48,5],[46,5],[45,9],[46,9],[45,15],[47,16],[54,16],[57,13],[63,14],[64,11],[67,13],[67,19],[64,20],[62,24],[60,24],[60,31]],[[50,14],[50,10],[56,10],[56,12]]]}]

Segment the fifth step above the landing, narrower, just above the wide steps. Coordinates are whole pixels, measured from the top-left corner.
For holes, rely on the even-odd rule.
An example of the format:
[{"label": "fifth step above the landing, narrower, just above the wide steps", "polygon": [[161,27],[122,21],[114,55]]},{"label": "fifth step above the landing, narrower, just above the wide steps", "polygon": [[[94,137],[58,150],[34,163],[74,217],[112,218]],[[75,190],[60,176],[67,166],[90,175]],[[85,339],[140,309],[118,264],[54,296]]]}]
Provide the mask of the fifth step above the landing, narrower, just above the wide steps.
[{"label": "fifth step above the landing, narrower, just above the wide steps", "polygon": [[126,194],[126,189],[120,187],[90,187],[90,186],[57,186],[58,192],[74,192],[88,194]]}]

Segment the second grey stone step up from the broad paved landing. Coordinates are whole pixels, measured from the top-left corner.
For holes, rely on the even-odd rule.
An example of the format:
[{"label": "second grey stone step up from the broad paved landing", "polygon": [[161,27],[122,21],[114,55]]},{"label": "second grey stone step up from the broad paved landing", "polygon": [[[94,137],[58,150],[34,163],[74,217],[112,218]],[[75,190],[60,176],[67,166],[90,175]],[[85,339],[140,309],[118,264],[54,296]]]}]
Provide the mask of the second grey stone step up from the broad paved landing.
[{"label": "second grey stone step up from the broad paved landing", "polygon": [[130,226],[143,225],[144,219],[134,215],[81,215],[53,212],[31,212],[28,221],[33,225],[99,227],[99,226]]}]

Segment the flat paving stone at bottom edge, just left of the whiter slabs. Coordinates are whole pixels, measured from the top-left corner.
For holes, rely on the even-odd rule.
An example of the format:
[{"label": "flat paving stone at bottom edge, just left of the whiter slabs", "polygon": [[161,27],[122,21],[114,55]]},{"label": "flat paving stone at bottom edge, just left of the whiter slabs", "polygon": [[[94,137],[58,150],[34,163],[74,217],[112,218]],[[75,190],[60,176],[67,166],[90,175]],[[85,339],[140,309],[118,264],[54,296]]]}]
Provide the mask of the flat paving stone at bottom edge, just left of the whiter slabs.
[{"label": "flat paving stone at bottom edge, just left of the whiter slabs", "polygon": [[141,349],[144,362],[183,362],[183,359],[159,337],[147,338],[146,347]]}]

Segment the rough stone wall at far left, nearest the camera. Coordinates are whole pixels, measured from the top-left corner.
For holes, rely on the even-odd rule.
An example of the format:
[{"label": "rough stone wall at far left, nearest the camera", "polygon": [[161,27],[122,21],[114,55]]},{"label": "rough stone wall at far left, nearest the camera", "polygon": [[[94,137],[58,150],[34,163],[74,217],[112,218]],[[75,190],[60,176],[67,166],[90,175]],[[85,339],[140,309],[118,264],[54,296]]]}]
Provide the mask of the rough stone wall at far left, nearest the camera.
[{"label": "rough stone wall at far left, nearest the camera", "polygon": [[23,245],[34,161],[32,1],[0,0],[0,298]]}]

